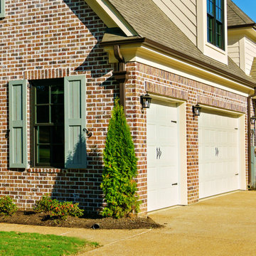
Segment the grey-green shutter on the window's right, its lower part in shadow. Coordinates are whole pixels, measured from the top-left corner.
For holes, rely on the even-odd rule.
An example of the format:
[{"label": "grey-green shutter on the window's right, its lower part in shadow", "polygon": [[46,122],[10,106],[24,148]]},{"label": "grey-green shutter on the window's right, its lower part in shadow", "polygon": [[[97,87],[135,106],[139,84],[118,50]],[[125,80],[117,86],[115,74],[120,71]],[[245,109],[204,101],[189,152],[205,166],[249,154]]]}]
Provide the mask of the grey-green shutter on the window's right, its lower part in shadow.
[{"label": "grey-green shutter on the window's right, its lower part in shadow", "polygon": [[85,137],[85,75],[65,77],[65,168],[85,169],[87,166]]}]

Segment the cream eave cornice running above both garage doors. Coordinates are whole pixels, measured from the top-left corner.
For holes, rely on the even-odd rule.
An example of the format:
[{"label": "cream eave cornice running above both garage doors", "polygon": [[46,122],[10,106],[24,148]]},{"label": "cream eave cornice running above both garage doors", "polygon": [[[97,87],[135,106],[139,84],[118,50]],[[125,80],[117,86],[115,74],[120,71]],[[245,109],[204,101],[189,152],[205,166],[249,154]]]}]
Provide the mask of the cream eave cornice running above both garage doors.
[{"label": "cream eave cornice running above both garage doors", "polygon": [[[114,58],[113,47],[106,46],[104,50],[109,53],[110,63],[116,63],[117,60]],[[153,48],[142,46],[141,43],[124,45],[121,46],[120,50],[126,62],[137,62],[149,65],[154,68],[165,70],[169,73],[181,75],[183,78],[202,82],[206,85],[226,90],[228,92],[233,92],[244,97],[248,97],[255,92],[252,87],[243,85],[242,83],[236,82],[230,78],[226,78],[223,75],[218,75],[210,70],[187,63],[181,59],[175,58],[174,56],[161,53]]]}]

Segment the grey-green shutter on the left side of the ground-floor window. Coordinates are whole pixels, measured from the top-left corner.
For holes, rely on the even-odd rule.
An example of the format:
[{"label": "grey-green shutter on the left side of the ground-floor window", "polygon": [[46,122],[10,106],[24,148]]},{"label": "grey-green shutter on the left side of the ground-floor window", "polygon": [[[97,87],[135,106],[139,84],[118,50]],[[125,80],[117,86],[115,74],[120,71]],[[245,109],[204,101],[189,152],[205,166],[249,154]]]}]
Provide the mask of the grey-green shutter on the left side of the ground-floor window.
[{"label": "grey-green shutter on the left side of the ground-floor window", "polygon": [[27,80],[9,82],[9,166],[26,168],[27,149]]}]

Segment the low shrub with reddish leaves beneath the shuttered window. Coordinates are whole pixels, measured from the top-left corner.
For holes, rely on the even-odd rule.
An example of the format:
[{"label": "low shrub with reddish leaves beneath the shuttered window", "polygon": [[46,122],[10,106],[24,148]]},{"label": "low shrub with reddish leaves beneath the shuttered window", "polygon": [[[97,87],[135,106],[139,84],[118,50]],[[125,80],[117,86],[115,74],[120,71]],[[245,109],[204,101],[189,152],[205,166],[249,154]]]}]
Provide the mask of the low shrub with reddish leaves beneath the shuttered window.
[{"label": "low shrub with reddish leaves beneath the shuttered window", "polygon": [[60,202],[57,199],[52,199],[47,194],[42,196],[39,201],[36,201],[34,210],[37,212],[49,212],[50,217],[57,217],[61,220],[66,220],[68,216],[81,217],[83,215],[82,209],[78,207],[79,203],[73,203],[71,201]]}]

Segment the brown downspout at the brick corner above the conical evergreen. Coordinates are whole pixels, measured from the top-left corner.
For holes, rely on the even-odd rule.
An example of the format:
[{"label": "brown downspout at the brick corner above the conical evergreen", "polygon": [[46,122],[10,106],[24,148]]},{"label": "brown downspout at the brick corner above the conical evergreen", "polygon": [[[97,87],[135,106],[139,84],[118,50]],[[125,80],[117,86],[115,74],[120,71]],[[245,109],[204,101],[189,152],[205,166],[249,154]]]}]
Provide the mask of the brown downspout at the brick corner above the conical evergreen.
[{"label": "brown downspout at the brick corner above the conical evergreen", "polygon": [[126,95],[125,82],[127,82],[129,75],[125,68],[124,57],[120,51],[119,46],[114,46],[114,57],[118,60],[117,71],[113,72],[114,79],[119,82],[119,100],[120,105],[124,107],[124,114],[126,113]]}]

